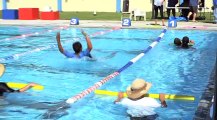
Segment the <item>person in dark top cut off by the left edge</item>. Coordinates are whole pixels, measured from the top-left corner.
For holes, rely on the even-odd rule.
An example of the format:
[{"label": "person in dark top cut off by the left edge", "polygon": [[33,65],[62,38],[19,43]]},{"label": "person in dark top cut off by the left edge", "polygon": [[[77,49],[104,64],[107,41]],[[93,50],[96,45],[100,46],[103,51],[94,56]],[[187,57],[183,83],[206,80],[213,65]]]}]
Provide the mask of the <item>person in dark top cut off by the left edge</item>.
[{"label": "person in dark top cut off by the left edge", "polygon": [[[5,66],[3,64],[0,64],[0,77],[4,74],[5,71]],[[10,87],[5,82],[0,82],[0,97],[3,96],[4,93],[12,93],[12,92],[25,92],[26,90],[37,86],[38,84],[36,83],[29,83],[25,87],[19,89],[19,90],[14,90]]]}]

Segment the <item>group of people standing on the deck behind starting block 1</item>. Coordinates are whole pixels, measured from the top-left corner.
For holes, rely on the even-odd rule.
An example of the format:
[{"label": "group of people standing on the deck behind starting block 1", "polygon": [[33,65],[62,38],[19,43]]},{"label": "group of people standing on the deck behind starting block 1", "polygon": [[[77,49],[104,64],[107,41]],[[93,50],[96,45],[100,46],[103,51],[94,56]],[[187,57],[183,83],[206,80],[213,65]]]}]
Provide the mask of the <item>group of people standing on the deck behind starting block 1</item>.
[{"label": "group of people standing on the deck behind starting block 1", "polygon": [[[154,19],[155,24],[157,24],[157,19],[162,20],[162,26],[165,26],[164,23],[164,14],[163,14],[163,4],[165,0],[154,0]],[[172,11],[172,17],[176,18],[176,7],[180,7],[180,17],[184,17],[186,21],[192,20],[192,22],[197,22],[197,13],[198,9],[204,7],[204,0],[183,0],[182,3],[178,4],[178,0],[168,0],[167,1],[167,17],[170,18],[170,13]],[[214,23],[217,24],[217,0],[213,0],[213,14],[214,14]],[[160,12],[160,17],[158,17],[158,12]]]}]

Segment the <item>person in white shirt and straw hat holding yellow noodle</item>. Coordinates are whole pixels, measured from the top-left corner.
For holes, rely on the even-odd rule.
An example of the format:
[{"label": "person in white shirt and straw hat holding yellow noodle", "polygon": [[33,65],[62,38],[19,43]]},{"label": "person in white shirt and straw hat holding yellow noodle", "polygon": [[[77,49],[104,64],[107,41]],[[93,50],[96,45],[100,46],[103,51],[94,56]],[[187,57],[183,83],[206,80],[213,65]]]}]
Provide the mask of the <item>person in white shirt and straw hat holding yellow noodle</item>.
[{"label": "person in white shirt and straw hat holding yellow noodle", "polygon": [[157,107],[167,107],[165,101],[165,95],[160,94],[159,104],[154,98],[145,97],[148,90],[151,88],[151,83],[146,82],[143,79],[135,79],[132,84],[126,89],[127,98],[124,98],[124,93],[119,92],[118,98],[114,101],[125,107],[127,107],[127,113],[131,119],[144,119],[150,117],[156,117],[154,109]]}]

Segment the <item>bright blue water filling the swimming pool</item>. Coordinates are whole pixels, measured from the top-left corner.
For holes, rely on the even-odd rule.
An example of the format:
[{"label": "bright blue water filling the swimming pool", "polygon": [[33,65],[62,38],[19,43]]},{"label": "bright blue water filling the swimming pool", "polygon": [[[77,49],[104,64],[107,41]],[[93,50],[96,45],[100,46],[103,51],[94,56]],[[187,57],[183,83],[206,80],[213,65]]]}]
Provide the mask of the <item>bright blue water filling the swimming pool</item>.
[{"label": "bright blue water filling the swimming pool", "polygon": [[[44,46],[56,45],[56,32],[4,41],[24,33],[40,32],[52,27],[0,27],[0,58],[24,53]],[[84,28],[88,34],[108,29]],[[43,119],[45,113],[56,110],[61,101],[77,95],[107,75],[123,67],[129,60],[146,49],[162,30],[121,29],[92,37],[95,60],[65,58],[57,47],[33,52],[16,59],[5,60],[4,82],[36,82],[43,91],[29,90],[22,94],[7,94],[0,100],[0,119]],[[189,36],[195,41],[194,49],[177,49],[170,45],[175,37]],[[203,90],[208,84],[217,51],[217,32],[199,30],[168,30],[162,41],[142,59],[127,68],[100,89],[124,91],[135,78],[152,83],[149,93],[193,95],[195,101],[168,100],[168,108],[158,108],[159,120],[192,119]],[[61,31],[65,49],[71,49],[73,38],[81,37],[80,30]],[[51,119],[62,120],[128,120],[126,109],[113,104],[115,97],[91,93],[69,106],[55,111]]]}]

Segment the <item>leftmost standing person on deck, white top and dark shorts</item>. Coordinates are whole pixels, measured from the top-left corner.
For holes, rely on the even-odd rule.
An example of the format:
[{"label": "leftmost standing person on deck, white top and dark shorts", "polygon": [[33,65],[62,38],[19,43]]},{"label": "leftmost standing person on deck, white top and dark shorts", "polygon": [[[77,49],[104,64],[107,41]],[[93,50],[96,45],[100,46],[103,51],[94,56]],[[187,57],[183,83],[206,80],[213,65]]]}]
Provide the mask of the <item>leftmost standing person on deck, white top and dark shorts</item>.
[{"label": "leftmost standing person on deck, white top and dark shorts", "polygon": [[163,2],[165,0],[154,0],[154,14],[155,14],[155,25],[157,25],[158,9],[160,10],[160,18],[162,19],[162,26],[164,24],[164,15],[163,15]]}]

